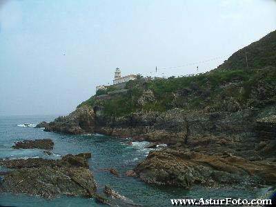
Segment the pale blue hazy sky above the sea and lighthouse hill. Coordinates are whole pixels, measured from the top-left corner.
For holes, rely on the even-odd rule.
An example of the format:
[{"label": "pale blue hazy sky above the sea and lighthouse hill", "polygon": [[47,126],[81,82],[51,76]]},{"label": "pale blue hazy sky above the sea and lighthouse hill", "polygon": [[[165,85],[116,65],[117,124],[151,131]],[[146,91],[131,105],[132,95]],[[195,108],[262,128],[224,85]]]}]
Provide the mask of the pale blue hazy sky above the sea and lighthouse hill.
[{"label": "pale blue hazy sky above the sea and lighthouse hill", "polygon": [[273,0],[0,0],[0,115],[65,115],[116,67],[211,70],[275,30],[275,11]]}]

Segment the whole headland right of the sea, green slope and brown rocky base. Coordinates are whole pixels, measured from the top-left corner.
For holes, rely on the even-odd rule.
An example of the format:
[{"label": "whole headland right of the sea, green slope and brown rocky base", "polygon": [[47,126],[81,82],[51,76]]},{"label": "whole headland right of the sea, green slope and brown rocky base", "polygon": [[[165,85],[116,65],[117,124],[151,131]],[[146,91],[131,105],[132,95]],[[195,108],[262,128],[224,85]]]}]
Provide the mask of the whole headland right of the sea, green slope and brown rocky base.
[{"label": "whole headland right of the sea, green slope and brown rocky base", "polygon": [[244,68],[244,53],[238,51],[204,74],[138,76],[126,83],[124,94],[113,92],[102,99],[96,93],[70,115],[38,127],[131,137],[154,143],[152,148],[166,144],[127,172],[152,184],[275,185],[276,68],[267,55],[275,57],[276,32],[268,36],[242,49],[257,52],[268,41],[274,46],[269,54],[256,53],[248,60],[253,68]]}]

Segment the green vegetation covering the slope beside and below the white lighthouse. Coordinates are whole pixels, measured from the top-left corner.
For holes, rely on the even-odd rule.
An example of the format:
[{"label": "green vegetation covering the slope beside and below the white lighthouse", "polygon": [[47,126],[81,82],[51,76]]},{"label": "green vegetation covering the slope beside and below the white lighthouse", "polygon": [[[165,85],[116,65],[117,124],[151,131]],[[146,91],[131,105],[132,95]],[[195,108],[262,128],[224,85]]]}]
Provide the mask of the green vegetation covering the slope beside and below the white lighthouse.
[{"label": "green vegetation covering the slope beside and below the white lighthouse", "polygon": [[193,77],[157,80],[139,77],[129,81],[126,88],[126,94],[106,100],[93,96],[81,104],[103,106],[108,116],[172,108],[228,110],[226,104],[235,105],[237,110],[262,107],[275,103],[276,70],[219,70]]}]

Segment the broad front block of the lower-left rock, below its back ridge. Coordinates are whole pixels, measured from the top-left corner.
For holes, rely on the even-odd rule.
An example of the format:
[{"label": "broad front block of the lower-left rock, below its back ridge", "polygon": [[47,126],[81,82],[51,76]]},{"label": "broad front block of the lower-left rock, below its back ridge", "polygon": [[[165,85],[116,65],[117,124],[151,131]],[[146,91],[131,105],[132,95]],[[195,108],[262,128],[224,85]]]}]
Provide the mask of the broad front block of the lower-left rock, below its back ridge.
[{"label": "broad front block of the lower-left rock, below its back ridge", "polygon": [[57,195],[92,197],[96,184],[86,168],[21,168],[4,177],[0,188],[8,193],[26,193],[54,198]]}]

